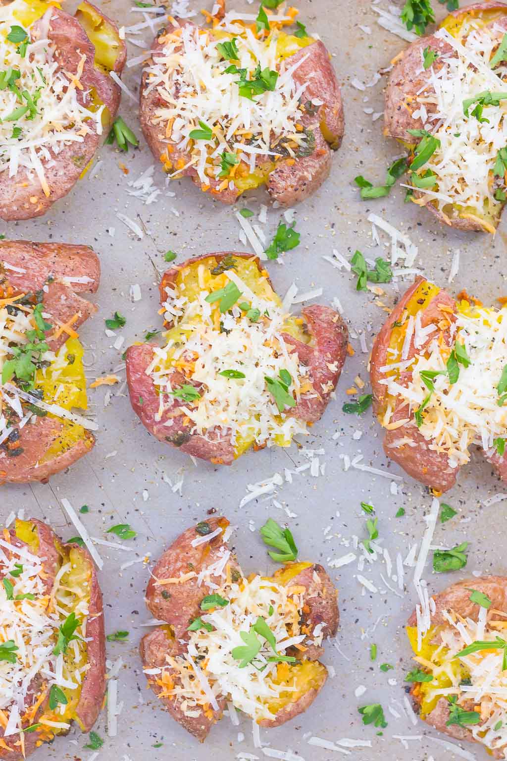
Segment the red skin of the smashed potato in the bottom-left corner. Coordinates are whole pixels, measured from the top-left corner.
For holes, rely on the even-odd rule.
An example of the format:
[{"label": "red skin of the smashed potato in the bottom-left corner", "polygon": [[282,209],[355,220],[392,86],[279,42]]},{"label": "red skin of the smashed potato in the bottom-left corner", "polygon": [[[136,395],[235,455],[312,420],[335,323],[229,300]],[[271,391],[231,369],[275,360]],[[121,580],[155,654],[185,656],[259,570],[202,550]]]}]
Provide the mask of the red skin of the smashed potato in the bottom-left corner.
[{"label": "red skin of the smashed potato in the bottom-left corner", "polygon": [[[61,554],[58,546],[61,544],[61,540],[56,536],[48,524],[43,521],[37,521],[30,518],[28,521],[33,524],[33,530],[39,537],[39,547],[36,551],[30,548],[30,552],[37,556],[43,557],[44,572],[46,578],[44,579],[44,587],[47,594],[50,594],[52,587],[55,584],[55,576],[58,572],[59,562]],[[9,531],[11,537],[11,543],[17,547],[27,547],[28,545],[17,538],[15,530]],[[102,708],[103,697],[106,691],[106,635],[104,632],[103,622],[103,605],[102,605],[102,593],[97,581],[97,573],[93,565],[93,561],[88,553],[87,549],[75,544],[65,544],[64,549],[73,547],[84,556],[84,558],[90,564],[90,616],[87,619],[86,637],[93,637],[91,642],[87,642],[87,654],[88,661],[90,663],[90,669],[83,680],[81,687],[81,696],[76,708],[76,714],[78,717],[78,723],[81,724],[81,728],[84,732],[89,732],[93,727],[97,717]],[[0,573],[1,575],[1,573]],[[28,693],[29,698],[32,699],[36,696],[36,693],[41,686],[41,680],[37,675],[31,685]],[[26,706],[29,708],[31,705],[30,699],[27,700]],[[43,701],[38,708],[33,724],[40,719],[40,717],[49,708],[49,696]],[[0,729],[0,738],[8,745],[10,750],[0,748],[0,759],[9,759],[9,761],[21,761],[21,759],[27,758],[33,753],[37,747],[40,747],[41,740],[38,733],[29,732],[24,734],[24,754],[21,752],[20,734],[10,735],[9,737],[3,736],[3,731]]]}]

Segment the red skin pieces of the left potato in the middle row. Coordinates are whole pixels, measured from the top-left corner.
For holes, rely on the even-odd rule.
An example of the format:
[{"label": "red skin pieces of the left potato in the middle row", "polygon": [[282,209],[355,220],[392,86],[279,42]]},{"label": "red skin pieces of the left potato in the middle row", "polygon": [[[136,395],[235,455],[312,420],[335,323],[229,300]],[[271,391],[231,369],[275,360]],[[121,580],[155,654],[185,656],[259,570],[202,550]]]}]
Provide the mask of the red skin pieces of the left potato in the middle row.
[{"label": "red skin pieces of the left potato in the middle row", "polygon": [[[8,269],[10,265],[26,272]],[[66,283],[65,277],[87,277],[87,283]],[[12,291],[13,295],[28,294],[39,291],[49,278],[54,278],[43,293],[44,311],[52,320],[68,322],[74,314],[78,328],[97,310],[90,301],[82,298],[79,292],[97,291],[100,282],[100,261],[96,253],[86,246],[69,244],[29,243],[24,240],[0,241],[0,291]],[[11,291],[10,291],[11,289]],[[78,292],[76,292],[78,291]],[[51,320],[50,320],[51,321]],[[54,324],[54,323],[52,323]],[[46,332],[49,348],[57,351],[68,336],[63,334],[51,339],[54,328]],[[71,466],[95,444],[90,431],[84,432],[84,438],[77,441],[70,449],[51,460],[41,462],[44,454],[59,438],[64,425],[58,419],[39,417],[35,424],[29,422],[19,431],[19,445],[24,450],[17,457],[8,457],[0,448],[0,483],[26,483],[29,481],[46,481],[49,476],[59,473]]]}]

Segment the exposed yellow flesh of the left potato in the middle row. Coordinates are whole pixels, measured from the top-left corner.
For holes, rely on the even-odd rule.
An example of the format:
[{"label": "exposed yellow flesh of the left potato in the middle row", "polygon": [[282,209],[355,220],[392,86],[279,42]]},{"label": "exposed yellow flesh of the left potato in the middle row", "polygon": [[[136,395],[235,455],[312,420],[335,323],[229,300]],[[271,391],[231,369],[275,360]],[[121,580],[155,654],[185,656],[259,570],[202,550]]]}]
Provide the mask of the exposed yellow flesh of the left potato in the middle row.
[{"label": "exposed yellow flesh of the left potato in the middle row", "polygon": [[[43,400],[48,404],[58,404],[64,409],[73,407],[87,409],[86,379],[83,366],[83,346],[78,339],[68,339],[65,343],[66,366],[59,371],[54,370],[54,364],[36,373],[36,388],[44,392]],[[74,358],[74,359],[73,359]],[[55,417],[49,415],[49,417]],[[82,425],[59,418],[62,432],[49,447],[40,462],[47,462],[59,454],[68,451],[77,441],[84,439],[85,431]]]}]

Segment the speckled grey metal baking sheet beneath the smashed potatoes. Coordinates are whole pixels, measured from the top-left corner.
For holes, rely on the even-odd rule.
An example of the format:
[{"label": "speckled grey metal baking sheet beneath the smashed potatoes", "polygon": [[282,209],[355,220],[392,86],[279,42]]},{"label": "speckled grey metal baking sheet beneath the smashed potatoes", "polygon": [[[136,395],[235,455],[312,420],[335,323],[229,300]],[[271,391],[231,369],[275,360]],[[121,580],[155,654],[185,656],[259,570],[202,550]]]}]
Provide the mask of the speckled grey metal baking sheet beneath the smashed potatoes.
[{"label": "speckled grey metal baking sheet beneath the smashed potatoes", "polygon": [[[100,5],[119,24],[131,26],[144,20],[142,13],[130,11],[131,5],[126,0]],[[198,2],[193,5],[196,9],[201,7]],[[235,7],[249,8],[242,2],[237,2]],[[387,5],[381,2],[379,7]],[[331,256],[334,248],[347,258],[356,249],[372,258],[385,255],[385,251],[372,247],[371,225],[366,218],[369,212],[374,212],[406,232],[419,248],[415,266],[439,285],[447,284],[452,255],[459,250],[461,264],[452,283],[453,290],[466,286],[469,292],[489,303],[505,295],[507,290],[505,224],[500,225],[496,237],[442,228],[429,213],[404,204],[404,189],[395,189],[386,199],[360,201],[353,177],[364,174],[373,182],[382,182],[385,168],[398,151],[394,142],[383,138],[382,119],[374,123],[372,115],[365,113],[370,108],[374,112],[382,111],[385,77],[364,91],[353,87],[350,81],[356,78],[372,83],[375,72],[388,66],[405,43],[378,26],[377,14],[372,11],[370,2],[364,0],[355,3],[302,0],[300,9],[299,18],[310,31],[321,33],[333,54],[343,83],[347,132],[341,151],[334,156],[330,179],[315,196],[296,209],[296,229],[301,233],[301,244],[281,256],[279,263],[269,263],[268,269],[274,286],[282,294],[296,282],[302,292],[322,287],[324,293],[318,299],[322,303],[339,298],[352,336],[356,336],[351,338],[356,353],[347,360],[336,400],[329,404],[322,421],[314,426],[305,442],[307,449],[318,451],[313,457],[318,457],[319,470],[322,468],[324,475],[313,477],[309,470],[304,470],[293,476],[292,483],[284,482],[266,498],[239,508],[248,493],[248,484],[269,479],[274,473],[283,476],[284,469],[295,470],[297,466],[308,464],[312,455],[293,446],[288,451],[271,449],[247,454],[230,468],[217,468],[203,462],[195,466],[188,457],[164,447],[147,434],[132,412],[125,392],[115,396],[122,390],[116,386],[89,392],[90,409],[97,414],[100,423],[97,445],[91,454],[67,473],[53,476],[49,484],[2,489],[2,518],[22,507],[27,516],[52,524],[64,539],[74,536],[76,531],[62,510],[62,498],[68,498],[74,508],[89,506],[90,512],[82,517],[93,537],[105,538],[105,530],[118,523],[131,524],[138,533],[135,540],[125,543],[127,549],[97,548],[104,560],[100,583],[106,632],[117,629],[129,632],[127,643],[108,643],[109,659],[122,658],[123,661],[118,674],[119,701],[123,702],[123,708],[118,718],[118,736],[114,738],[107,735],[106,712],[101,715],[96,727],[104,738],[99,761],[123,756],[132,761],[142,756],[153,761],[167,758],[204,761],[214,754],[235,759],[240,753],[251,753],[252,756],[246,756],[251,759],[265,758],[264,751],[253,745],[252,724],[246,719],[236,728],[229,718],[224,718],[213,728],[205,745],[200,746],[157,705],[153,693],[146,689],[138,659],[138,642],[147,631],[144,624],[150,619],[144,607],[149,564],[137,563],[123,571],[121,565],[148,553],[157,559],[178,533],[202,520],[210,510],[227,515],[231,523],[237,525],[232,542],[245,572],[274,570],[258,535],[259,527],[268,517],[273,517],[279,522],[287,521],[299,546],[300,557],[322,562],[340,591],[341,626],[337,646],[328,643],[323,659],[334,669],[335,676],[328,680],[305,715],[284,727],[261,731],[266,747],[290,748],[306,761],[327,761],[344,755],[347,750],[350,761],[369,761],[380,753],[400,761],[423,761],[429,756],[448,761],[456,757],[452,750],[437,742],[445,740],[444,735],[429,731],[422,722],[414,725],[402,708],[404,675],[410,669],[410,650],[403,627],[416,601],[411,581],[414,568],[404,568],[404,588],[400,591],[398,582],[387,578],[385,564],[373,563],[363,571],[363,576],[378,590],[371,594],[357,581],[356,563],[338,569],[329,565],[332,559],[353,549],[354,536],[366,537],[360,501],[375,506],[380,541],[395,559],[398,552],[405,557],[413,543],[420,543],[426,527],[423,516],[429,511],[431,498],[426,489],[404,476],[393,463],[388,463],[371,410],[360,419],[341,412],[345,390],[353,384],[354,378],[360,375],[366,383],[368,380],[368,353],[360,348],[360,333],[364,334],[369,351],[385,312],[375,304],[372,293],[356,293],[355,279],[347,272],[334,269],[322,256]],[[438,18],[442,18],[444,12],[440,6],[436,8]],[[132,33],[126,36],[134,37]],[[144,30],[134,38],[149,47],[151,33]],[[129,57],[141,52],[140,47],[129,43]],[[134,66],[125,69],[124,75],[125,83],[136,98],[140,72],[140,66]],[[137,103],[124,95],[119,113],[141,138]],[[7,237],[89,244],[100,254],[103,274],[95,298],[99,311],[81,330],[81,339],[87,347],[90,380],[114,371],[121,364],[122,351],[127,345],[142,339],[146,330],[160,327],[157,277],[166,268],[163,260],[166,250],[174,250],[178,254],[177,261],[213,251],[249,250],[239,243],[239,224],[233,210],[203,196],[190,180],[172,183],[170,191],[176,195],[167,196],[163,175],[157,168],[154,183],[162,190],[157,202],[144,205],[140,199],[129,196],[128,182],[153,164],[142,139],[140,143],[139,150],[128,154],[119,154],[109,146],[102,148],[87,177],[45,217],[0,224],[0,233]],[[239,208],[248,206],[258,212],[262,202],[266,202],[266,198],[259,192],[242,200]],[[142,240],[125,227],[117,213],[141,225]],[[279,210],[268,211],[268,223],[262,225],[268,238],[273,236],[279,219]],[[388,238],[382,237],[382,240],[387,243]],[[129,290],[135,284],[140,285],[142,298],[132,303]],[[386,285],[382,302],[388,306],[393,304],[398,290],[403,291],[404,287],[403,283],[398,287]],[[114,310],[127,317],[125,328],[118,332],[125,338],[119,350],[112,347],[115,339],[104,333],[103,320],[111,317]],[[124,371],[119,375],[124,378]],[[112,392],[112,400],[104,407],[107,391]],[[360,454],[363,455],[361,462],[392,474],[393,478],[402,476],[403,480],[396,482],[398,494],[392,493],[390,477],[373,476],[353,467],[344,470],[346,458],[353,459]],[[174,491],[181,479],[181,490]],[[445,501],[459,513],[445,525],[437,525],[434,543],[449,547],[468,540],[471,546],[465,574],[432,575],[430,568],[426,568],[430,591],[438,591],[471,573],[505,573],[502,534],[507,502],[490,507],[483,505],[484,499],[499,492],[502,492],[499,481],[482,458],[477,457],[460,474],[458,485],[445,495]],[[406,515],[395,518],[401,507],[405,508]],[[394,591],[382,581],[381,573]],[[396,570],[392,573],[396,574]],[[369,660],[372,643],[378,646],[379,652],[375,663]],[[379,664],[384,662],[395,669],[383,673]],[[359,686],[366,687],[366,691],[357,698],[355,691]],[[377,736],[371,726],[364,727],[357,712],[359,705],[373,702],[382,703],[388,720],[382,736]],[[388,711],[389,705],[400,718]],[[242,742],[238,740],[239,732],[245,735]],[[308,744],[310,736],[332,742],[344,737],[369,740],[371,747],[341,747],[340,752],[323,750]],[[404,740],[405,748],[396,736],[418,739]],[[63,739],[55,740],[51,747],[40,750],[40,757],[90,758],[92,752],[84,750],[86,736],[73,730],[68,739],[71,744]],[[155,748],[158,743],[162,744]],[[474,753],[477,759],[486,759],[480,747],[468,746],[467,751]]]}]

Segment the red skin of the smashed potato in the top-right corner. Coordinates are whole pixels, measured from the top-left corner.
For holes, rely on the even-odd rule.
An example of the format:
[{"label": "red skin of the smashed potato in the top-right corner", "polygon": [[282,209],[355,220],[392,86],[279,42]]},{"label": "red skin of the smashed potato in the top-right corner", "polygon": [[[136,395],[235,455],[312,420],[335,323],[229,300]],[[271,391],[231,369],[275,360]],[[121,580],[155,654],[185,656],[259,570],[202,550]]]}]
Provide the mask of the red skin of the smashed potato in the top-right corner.
[{"label": "red skin of the smashed potato in the top-right corner", "polygon": [[[463,18],[467,15],[474,15],[476,11],[493,11],[503,10],[507,14],[507,5],[502,2],[482,2],[468,5],[467,8],[460,8],[457,11],[452,11],[450,16],[455,18]],[[499,19],[493,22],[496,26],[503,27],[507,30],[507,18]],[[492,26],[493,24],[489,24]],[[445,42],[445,40],[439,40],[438,37],[431,34],[427,37],[423,37],[420,40],[415,40],[407,47],[402,54],[401,58],[395,63],[395,67],[392,69],[388,78],[387,88],[385,90],[385,110],[384,110],[384,133],[389,137],[403,140],[409,143],[414,142],[414,136],[410,135],[408,129],[422,129],[423,122],[421,119],[413,119],[410,110],[407,108],[407,97],[414,96],[429,79],[431,70],[427,69],[424,72],[419,72],[420,54],[423,49],[429,47],[436,50],[440,56],[454,55],[452,47]],[[433,64],[433,68],[438,71],[445,63],[439,62],[437,59]],[[435,107],[429,103],[426,105],[428,113],[433,113]],[[427,197],[424,193],[414,191],[414,197],[417,199]],[[426,209],[431,212],[442,224],[448,224],[449,227],[456,230],[464,231],[476,231],[482,232],[484,230],[481,224],[473,219],[461,219],[459,217],[448,217],[430,202],[428,198],[426,203]]]}]

